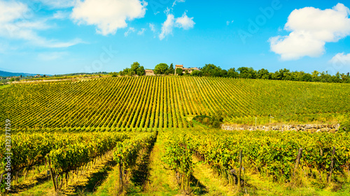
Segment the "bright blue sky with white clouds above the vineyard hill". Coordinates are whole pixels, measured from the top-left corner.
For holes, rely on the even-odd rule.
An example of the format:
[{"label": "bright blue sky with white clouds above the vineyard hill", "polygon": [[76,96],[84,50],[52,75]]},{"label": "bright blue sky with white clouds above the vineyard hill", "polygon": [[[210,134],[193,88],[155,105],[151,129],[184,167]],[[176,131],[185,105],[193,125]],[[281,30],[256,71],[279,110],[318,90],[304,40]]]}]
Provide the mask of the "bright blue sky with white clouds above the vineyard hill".
[{"label": "bright blue sky with white clouds above the vineyard hill", "polygon": [[[0,70],[350,71],[350,1],[0,0]],[[289,17],[289,19],[288,19]]]}]

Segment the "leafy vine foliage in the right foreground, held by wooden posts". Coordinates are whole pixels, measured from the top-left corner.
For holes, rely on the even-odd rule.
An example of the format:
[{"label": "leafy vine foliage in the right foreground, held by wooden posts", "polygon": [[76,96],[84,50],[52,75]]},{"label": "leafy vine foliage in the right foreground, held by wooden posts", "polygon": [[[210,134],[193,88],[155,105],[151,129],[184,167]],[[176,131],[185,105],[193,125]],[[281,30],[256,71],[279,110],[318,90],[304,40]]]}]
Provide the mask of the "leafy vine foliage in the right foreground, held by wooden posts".
[{"label": "leafy vine foliage in the right foreground, held by wooden posts", "polygon": [[[258,169],[281,183],[292,181],[295,159],[303,149],[300,168],[329,173],[332,148],[336,149],[333,174],[344,174],[350,164],[350,135],[347,133],[304,133],[280,131],[223,131],[204,128],[177,130],[173,137],[186,141],[191,151],[234,184],[239,168],[239,151],[245,169]],[[333,176],[334,177],[334,176]],[[312,177],[311,177],[312,178]],[[319,181],[319,177],[314,177]],[[325,178],[321,179],[325,181]]]}]

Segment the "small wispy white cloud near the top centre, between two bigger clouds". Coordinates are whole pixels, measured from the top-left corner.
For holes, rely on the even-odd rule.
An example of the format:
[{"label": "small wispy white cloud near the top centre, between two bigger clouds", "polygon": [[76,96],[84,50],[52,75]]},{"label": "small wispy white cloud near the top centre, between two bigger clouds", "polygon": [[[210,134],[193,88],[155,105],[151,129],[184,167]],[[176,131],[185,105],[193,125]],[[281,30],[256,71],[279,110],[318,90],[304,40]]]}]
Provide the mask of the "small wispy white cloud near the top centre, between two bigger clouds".
[{"label": "small wispy white cloud near the top centre, between two bigger clouds", "polygon": [[193,17],[188,17],[186,12],[182,17],[175,18],[173,14],[167,14],[167,20],[162,24],[162,32],[159,35],[160,40],[164,39],[167,35],[172,34],[174,27],[182,28],[185,30],[193,28],[195,22]]}]

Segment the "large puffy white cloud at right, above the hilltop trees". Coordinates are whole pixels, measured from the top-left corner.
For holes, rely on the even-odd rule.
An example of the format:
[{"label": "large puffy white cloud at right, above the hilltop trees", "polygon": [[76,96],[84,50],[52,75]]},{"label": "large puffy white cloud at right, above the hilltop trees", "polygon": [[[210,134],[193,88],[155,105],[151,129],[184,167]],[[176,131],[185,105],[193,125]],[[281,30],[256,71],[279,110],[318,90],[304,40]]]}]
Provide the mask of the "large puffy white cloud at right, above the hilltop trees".
[{"label": "large puffy white cloud at right, above the hilltop trees", "polygon": [[271,50],[280,54],[282,60],[321,56],[325,43],[337,42],[350,35],[349,15],[349,8],[342,3],[326,10],[312,7],[293,10],[284,27],[291,33],[270,38]]}]

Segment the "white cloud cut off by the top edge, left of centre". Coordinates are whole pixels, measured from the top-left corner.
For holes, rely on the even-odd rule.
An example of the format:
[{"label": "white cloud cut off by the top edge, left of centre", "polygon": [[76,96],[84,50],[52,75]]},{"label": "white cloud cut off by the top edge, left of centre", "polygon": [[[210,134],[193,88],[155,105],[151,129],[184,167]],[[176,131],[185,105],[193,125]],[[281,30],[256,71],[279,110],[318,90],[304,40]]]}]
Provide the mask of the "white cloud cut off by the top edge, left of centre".
[{"label": "white cloud cut off by the top edge, left of centre", "polygon": [[71,18],[78,24],[96,25],[97,33],[106,36],[127,27],[127,21],[144,17],[146,6],[139,0],[79,0]]}]

